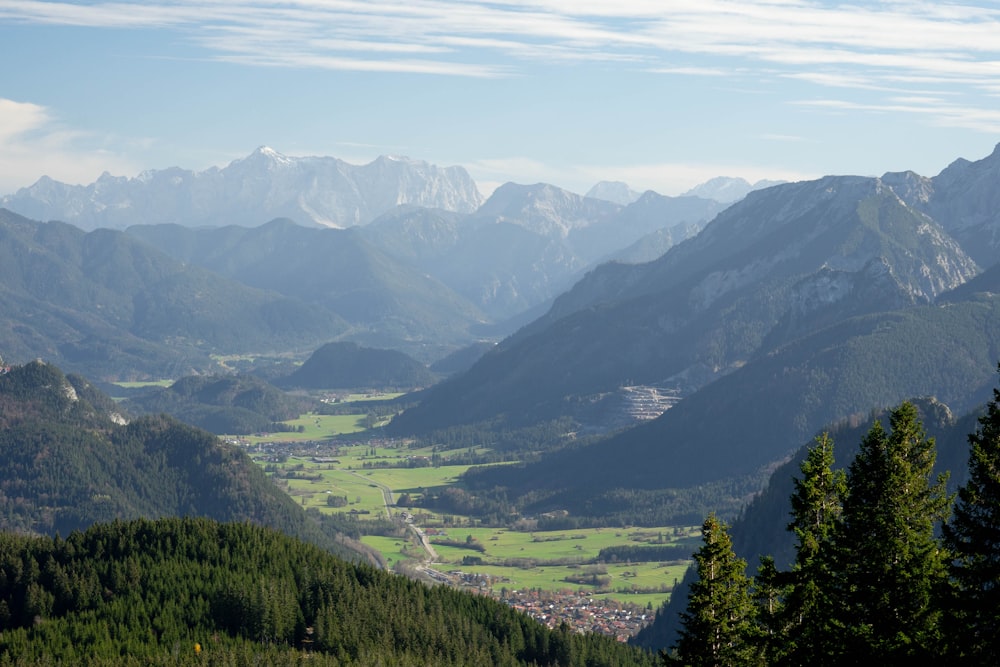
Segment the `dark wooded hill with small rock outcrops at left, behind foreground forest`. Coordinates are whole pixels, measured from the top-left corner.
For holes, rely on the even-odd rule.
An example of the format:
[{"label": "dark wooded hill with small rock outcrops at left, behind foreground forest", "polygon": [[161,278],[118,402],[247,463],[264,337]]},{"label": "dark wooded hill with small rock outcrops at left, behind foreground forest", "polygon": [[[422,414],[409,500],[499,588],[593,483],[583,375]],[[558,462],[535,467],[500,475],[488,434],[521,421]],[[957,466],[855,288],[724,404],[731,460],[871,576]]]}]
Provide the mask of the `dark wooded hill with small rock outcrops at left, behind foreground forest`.
[{"label": "dark wooded hill with small rock outcrops at left, behind foreground forest", "polygon": [[246,454],[166,416],[127,421],[78,376],[31,362],[0,375],[0,528],[67,535],[97,521],[252,521],[357,553],[324,534]]}]

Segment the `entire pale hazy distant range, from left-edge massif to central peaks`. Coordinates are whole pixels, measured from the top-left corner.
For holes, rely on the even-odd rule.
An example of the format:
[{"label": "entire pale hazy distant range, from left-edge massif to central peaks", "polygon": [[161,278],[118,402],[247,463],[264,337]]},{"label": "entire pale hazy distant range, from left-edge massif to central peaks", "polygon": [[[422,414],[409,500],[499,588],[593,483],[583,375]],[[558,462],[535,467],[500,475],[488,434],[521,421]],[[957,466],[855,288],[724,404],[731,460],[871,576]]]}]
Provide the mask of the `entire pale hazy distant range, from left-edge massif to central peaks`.
[{"label": "entire pale hazy distant range, from left-edge massif to central peaks", "polygon": [[342,322],[327,340],[428,362],[511,333],[598,263],[658,256],[723,208],[654,192],[617,204],[514,183],[483,201],[457,167],[390,157],[355,167],[266,147],[202,172],[105,174],[87,186],[42,178],[0,206],[84,230],[127,229],[185,264],[332,312]]}]

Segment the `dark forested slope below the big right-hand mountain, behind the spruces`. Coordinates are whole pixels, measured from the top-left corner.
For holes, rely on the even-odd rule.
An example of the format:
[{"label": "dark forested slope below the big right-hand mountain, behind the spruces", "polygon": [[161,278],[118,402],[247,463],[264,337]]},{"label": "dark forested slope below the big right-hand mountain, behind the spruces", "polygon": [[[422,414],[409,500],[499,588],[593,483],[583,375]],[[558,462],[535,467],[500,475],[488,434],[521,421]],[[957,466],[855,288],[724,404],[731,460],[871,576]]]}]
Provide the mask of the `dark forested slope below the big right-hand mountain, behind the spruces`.
[{"label": "dark forested slope below the big right-hand mountain, behind the spruces", "polygon": [[[689,496],[702,485],[756,474],[829,423],[913,396],[972,409],[989,397],[997,359],[1000,296],[859,316],[753,359],[655,420],[469,482],[479,493],[528,494],[526,512],[605,517],[622,511],[613,499],[657,490],[638,515],[650,525],[690,520]],[[744,500],[722,493],[714,508]]]}]

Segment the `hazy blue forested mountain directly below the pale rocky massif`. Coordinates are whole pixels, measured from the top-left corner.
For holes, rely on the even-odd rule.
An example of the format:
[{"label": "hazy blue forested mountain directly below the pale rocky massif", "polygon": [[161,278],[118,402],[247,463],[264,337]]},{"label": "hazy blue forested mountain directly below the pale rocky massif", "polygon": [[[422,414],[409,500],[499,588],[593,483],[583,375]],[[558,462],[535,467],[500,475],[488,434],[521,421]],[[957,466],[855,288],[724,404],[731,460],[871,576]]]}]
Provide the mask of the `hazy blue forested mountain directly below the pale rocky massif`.
[{"label": "hazy blue forested mountain directly below the pale rocky massif", "polygon": [[[366,345],[471,339],[485,316],[439,280],[398,261],[358,229],[316,229],[288,219],[259,227],[135,226],[128,235],[183,262],[337,313]],[[332,340],[337,330],[331,330]]]}]

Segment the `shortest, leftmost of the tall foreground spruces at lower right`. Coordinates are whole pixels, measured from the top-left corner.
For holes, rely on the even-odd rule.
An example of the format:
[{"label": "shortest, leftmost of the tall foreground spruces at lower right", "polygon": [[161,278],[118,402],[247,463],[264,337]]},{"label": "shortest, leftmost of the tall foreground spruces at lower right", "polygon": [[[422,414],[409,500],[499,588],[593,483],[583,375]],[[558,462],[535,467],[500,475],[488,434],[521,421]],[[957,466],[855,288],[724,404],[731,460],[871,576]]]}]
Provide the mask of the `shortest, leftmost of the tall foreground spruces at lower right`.
[{"label": "shortest, leftmost of the tall foreground spruces at lower right", "polygon": [[694,561],[698,579],[680,615],[676,654],[664,655],[664,661],[692,667],[754,664],[758,651],[747,564],[736,557],[729,528],[714,513],[702,525]]}]

